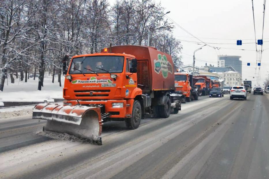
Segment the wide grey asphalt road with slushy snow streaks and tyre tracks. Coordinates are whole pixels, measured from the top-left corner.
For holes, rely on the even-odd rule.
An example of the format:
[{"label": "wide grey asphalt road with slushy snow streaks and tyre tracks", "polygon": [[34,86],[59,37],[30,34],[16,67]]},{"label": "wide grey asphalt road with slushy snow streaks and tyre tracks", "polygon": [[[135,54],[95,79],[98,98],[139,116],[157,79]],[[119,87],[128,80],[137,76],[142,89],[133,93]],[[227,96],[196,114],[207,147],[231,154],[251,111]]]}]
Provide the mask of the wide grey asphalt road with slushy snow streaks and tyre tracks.
[{"label": "wide grey asphalt road with slushy snow streaks and tyre tracks", "polygon": [[269,94],[200,97],[136,130],[105,123],[102,146],[37,135],[45,122],[0,119],[0,178],[269,178]]}]

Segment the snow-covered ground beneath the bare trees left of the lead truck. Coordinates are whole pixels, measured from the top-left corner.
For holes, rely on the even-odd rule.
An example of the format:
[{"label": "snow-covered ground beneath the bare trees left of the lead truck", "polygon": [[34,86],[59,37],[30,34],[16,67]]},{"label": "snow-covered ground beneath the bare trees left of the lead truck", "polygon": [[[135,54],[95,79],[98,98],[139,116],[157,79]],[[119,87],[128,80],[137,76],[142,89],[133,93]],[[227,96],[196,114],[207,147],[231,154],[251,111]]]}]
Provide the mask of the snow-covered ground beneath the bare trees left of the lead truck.
[{"label": "snow-covered ground beneath the bare trees left of the lead truck", "polygon": [[44,78],[44,87],[42,90],[37,90],[38,78],[33,80],[29,78],[27,83],[20,81],[15,78],[15,83],[5,81],[5,86],[3,92],[0,91],[0,105],[1,102],[42,102],[47,100],[48,102],[53,102],[53,98],[63,98],[62,89],[64,85],[64,77],[61,77],[62,87],[59,86],[58,77],[55,76],[54,83],[52,81],[52,76],[48,74]]}]

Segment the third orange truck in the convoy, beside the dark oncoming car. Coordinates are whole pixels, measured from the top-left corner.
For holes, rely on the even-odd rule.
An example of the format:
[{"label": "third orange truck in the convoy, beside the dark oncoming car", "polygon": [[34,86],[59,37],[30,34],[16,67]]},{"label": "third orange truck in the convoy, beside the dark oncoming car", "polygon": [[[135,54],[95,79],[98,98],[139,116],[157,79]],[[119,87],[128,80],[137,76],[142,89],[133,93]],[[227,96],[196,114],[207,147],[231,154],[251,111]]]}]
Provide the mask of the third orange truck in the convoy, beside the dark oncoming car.
[{"label": "third orange truck in the convoy, beside the dark oncoming car", "polygon": [[195,78],[199,79],[195,83],[195,87],[198,88],[199,94],[202,96],[206,96],[212,89],[211,79],[206,76],[195,76]]}]

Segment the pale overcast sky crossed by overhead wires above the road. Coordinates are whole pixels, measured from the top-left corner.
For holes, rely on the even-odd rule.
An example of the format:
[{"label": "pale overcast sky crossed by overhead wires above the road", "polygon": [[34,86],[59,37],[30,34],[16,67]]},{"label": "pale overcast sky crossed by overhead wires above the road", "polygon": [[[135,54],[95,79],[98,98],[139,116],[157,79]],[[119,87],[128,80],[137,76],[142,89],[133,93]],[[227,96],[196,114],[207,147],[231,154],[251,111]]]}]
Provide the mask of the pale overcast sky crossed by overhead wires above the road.
[{"label": "pale overcast sky crossed by overhead wires above the road", "polygon": [[[114,2],[114,0],[111,0],[111,2]],[[208,64],[217,66],[217,55],[238,55],[241,56],[240,60],[242,60],[242,79],[247,78],[254,80],[253,76],[256,79],[256,48],[251,0],[156,0],[156,2],[161,2],[162,6],[166,8],[166,11],[171,11],[170,14],[167,14],[168,17],[172,18],[180,26],[202,41],[208,43],[234,43],[234,45],[209,44],[215,47],[223,47],[219,50],[207,46],[203,47],[195,53],[197,59],[195,65],[204,66],[207,62]],[[263,2],[263,0],[254,0],[257,39],[262,38]],[[259,75],[262,78],[262,81],[260,81],[261,85],[269,71],[268,6],[269,2],[266,5],[264,20],[264,52],[262,53],[262,64]],[[198,41],[195,38],[191,38],[191,35],[184,32],[176,25],[173,34],[176,38],[181,40]],[[250,44],[242,44],[241,46],[238,46],[236,45],[236,39],[242,39],[242,43]],[[192,64],[193,51],[202,45],[186,41],[182,41],[182,44],[183,62],[184,64]],[[261,45],[257,45],[257,47],[258,50],[261,49]],[[254,51],[235,50],[235,48]],[[250,62],[251,66],[247,66],[247,62]]]}]

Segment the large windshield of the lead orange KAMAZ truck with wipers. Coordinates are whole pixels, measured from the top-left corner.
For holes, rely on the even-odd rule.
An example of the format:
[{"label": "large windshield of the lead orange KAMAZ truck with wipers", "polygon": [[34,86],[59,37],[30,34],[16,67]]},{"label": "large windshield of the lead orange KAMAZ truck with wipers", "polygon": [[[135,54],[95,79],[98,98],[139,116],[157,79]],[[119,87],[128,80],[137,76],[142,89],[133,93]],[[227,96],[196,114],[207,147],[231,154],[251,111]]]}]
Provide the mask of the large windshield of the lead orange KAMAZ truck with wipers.
[{"label": "large windshield of the lead orange KAMAZ truck with wipers", "polygon": [[[88,56],[74,58],[69,74],[83,73],[121,73],[123,71],[123,56]],[[106,71],[105,71],[106,70]]]}]

